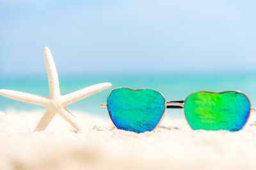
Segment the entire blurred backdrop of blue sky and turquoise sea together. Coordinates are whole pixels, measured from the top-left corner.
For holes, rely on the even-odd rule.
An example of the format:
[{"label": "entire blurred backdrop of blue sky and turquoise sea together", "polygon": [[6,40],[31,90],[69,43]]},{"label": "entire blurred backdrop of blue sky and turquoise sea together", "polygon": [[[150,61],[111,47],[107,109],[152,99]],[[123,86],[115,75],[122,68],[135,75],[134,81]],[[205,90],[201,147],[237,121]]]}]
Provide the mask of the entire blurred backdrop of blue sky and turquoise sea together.
[{"label": "entire blurred backdrop of blue sky and turquoise sea together", "polygon": [[[75,104],[108,116],[116,87],[159,90],[167,101],[197,90],[241,90],[256,106],[255,1],[0,1],[0,89],[49,96],[43,48],[61,94],[111,82]],[[44,110],[0,97],[0,110]],[[168,110],[182,117],[181,110]]]}]

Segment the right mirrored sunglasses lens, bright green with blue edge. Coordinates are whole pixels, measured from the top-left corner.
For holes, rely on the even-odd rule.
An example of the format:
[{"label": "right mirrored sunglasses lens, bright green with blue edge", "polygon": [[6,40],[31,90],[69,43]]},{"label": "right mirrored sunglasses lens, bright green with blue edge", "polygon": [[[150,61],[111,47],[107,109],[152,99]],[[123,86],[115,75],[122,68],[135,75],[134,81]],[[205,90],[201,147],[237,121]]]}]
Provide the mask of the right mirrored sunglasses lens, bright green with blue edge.
[{"label": "right mirrored sunglasses lens, bright green with blue edge", "polygon": [[250,115],[250,101],[240,92],[195,92],[184,113],[192,129],[239,131]]}]

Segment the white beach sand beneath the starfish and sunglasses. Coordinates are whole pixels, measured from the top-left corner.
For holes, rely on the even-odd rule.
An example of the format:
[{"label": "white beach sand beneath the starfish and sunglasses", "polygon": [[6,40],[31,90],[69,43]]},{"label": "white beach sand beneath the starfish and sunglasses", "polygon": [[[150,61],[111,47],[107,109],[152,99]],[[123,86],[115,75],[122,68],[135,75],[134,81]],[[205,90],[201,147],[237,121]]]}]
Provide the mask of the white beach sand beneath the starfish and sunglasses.
[{"label": "white beach sand beneath the starfish and sunglasses", "polygon": [[32,132],[44,111],[0,112],[0,169],[256,169],[256,116],[239,132],[192,131],[165,117],[155,132],[115,129],[109,118],[72,111],[88,132],[55,117]]}]

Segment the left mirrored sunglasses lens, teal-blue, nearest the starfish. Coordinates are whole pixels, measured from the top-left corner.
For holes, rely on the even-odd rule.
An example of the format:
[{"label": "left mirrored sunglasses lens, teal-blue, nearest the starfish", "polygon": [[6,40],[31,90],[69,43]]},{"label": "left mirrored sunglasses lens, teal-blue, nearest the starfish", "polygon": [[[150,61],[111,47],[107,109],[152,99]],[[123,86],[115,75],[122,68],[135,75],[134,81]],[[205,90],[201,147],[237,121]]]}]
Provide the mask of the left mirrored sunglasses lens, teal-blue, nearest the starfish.
[{"label": "left mirrored sunglasses lens, teal-blue, nearest the starfish", "polygon": [[108,96],[108,112],[118,129],[152,131],[165,111],[165,99],[156,90],[114,89]]}]

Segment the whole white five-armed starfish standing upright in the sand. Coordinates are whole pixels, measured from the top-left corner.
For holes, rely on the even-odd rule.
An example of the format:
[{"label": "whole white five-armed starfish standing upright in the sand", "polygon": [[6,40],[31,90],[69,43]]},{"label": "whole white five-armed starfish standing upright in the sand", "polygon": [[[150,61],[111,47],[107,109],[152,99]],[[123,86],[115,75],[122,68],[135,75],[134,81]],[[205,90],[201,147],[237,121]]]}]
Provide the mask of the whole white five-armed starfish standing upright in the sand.
[{"label": "whole white five-armed starfish standing upright in the sand", "polygon": [[44,116],[36,126],[35,131],[43,131],[57,113],[67,120],[67,122],[77,131],[85,130],[84,126],[79,123],[76,117],[67,110],[66,106],[68,104],[75,103],[84,97],[88,97],[92,94],[108,89],[111,87],[111,83],[99,83],[77,90],[76,92],[66,94],[65,96],[61,96],[58,73],[54,60],[52,59],[51,51],[47,47],[44,47],[44,59],[47,68],[50,97],[4,89],[0,89],[0,95],[26,103],[38,104],[47,108]]}]

